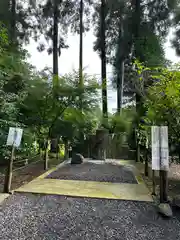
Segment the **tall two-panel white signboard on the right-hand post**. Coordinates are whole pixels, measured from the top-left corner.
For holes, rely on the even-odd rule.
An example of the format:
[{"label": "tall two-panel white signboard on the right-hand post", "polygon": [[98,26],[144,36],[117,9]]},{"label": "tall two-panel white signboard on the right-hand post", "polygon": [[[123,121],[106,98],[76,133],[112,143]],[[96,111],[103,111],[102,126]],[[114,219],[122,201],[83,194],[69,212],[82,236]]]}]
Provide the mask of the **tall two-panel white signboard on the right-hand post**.
[{"label": "tall two-panel white signboard on the right-hand post", "polygon": [[168,127],[151,127],[152,169],[169,170]]}]

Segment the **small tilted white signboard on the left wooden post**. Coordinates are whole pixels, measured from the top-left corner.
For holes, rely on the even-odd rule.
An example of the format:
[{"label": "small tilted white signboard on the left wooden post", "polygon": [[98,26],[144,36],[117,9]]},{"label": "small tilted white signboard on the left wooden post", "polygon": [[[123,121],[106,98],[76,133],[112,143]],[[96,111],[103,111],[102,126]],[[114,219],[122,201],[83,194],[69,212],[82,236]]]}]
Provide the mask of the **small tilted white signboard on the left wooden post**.
[{"label": "small tilted white signboard on the left wooden post", "polygon": [[19,147],[21,144],[23,130],[21,128],[9,128],[7,146]]}]

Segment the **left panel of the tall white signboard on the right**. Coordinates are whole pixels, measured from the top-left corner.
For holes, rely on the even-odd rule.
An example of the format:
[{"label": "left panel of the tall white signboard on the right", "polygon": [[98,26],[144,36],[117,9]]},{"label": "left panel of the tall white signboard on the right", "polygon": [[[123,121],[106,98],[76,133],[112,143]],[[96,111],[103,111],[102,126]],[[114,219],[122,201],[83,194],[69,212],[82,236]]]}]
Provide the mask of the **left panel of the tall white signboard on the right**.
[{"label": "left panel of the tall white signboard on the right", "polygon": [[159,127],[151,127],[151,151],[152,151],[152,169],[160,170],[160,141],[159,141]]}]

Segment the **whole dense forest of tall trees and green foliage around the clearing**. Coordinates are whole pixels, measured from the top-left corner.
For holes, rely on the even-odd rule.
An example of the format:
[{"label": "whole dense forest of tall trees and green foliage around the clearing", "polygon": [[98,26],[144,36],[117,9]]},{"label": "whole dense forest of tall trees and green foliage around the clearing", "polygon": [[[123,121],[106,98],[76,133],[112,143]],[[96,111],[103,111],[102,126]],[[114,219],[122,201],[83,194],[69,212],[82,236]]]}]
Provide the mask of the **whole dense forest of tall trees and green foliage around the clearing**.
[{"label": "whole dense forest of tall trees and green foliage around the clearing", "polygon": [[[136,148],[136,133],[136,144],[143,146],[150,126],[164,124],[180,156],[179,66],[165,58],[164,49],[173,28],[172,47],[180,54],[179,7],[178,0],[1,0],[0,162],[9,156],[9,127],[24,129],[18,151],[30,156],[52,139],[77,147],[99,128],[126,132],[129,146]],[[90,29],[96,37],[92,51],[101,59],[102,84],[83,67],[83,37]],[[70,32],[79,35],[79,69],[60,77],[58,59],[62,49],[68,51]],[[28,63],[25,47],[31,39],[37,51],[52,55],[52,69],[38,71]],[[107,64],[113,67],[117,89],[113,115],[108,112]]]}]

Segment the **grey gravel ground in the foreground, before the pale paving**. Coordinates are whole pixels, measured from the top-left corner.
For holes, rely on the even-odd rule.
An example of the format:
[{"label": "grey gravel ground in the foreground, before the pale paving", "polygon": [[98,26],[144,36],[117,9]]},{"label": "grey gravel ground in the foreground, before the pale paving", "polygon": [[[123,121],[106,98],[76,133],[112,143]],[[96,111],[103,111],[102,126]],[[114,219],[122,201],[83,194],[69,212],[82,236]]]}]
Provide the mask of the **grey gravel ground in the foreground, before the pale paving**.
[{"label": "grey gravel ground in the foreground, before the pale paving", "polygon": [[178,240],[151,203],[16,194],[0,206],[2,240]]}]

